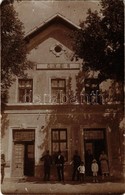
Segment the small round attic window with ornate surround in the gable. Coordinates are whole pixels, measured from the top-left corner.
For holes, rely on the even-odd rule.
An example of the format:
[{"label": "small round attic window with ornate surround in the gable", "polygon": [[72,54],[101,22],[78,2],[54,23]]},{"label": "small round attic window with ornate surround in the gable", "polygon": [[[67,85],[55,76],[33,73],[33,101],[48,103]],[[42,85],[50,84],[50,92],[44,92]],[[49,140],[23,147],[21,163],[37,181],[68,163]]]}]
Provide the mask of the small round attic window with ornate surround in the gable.
[{"label": "small round attic window with ornate surround in the gable", "polygon": [[52,51],[52,53],[56,56],[56,57],[60,57],[63,52],[66,51],[66,49],[64,48],[63,45],[56,43],[53,46],[51,46],[50,51]]}]

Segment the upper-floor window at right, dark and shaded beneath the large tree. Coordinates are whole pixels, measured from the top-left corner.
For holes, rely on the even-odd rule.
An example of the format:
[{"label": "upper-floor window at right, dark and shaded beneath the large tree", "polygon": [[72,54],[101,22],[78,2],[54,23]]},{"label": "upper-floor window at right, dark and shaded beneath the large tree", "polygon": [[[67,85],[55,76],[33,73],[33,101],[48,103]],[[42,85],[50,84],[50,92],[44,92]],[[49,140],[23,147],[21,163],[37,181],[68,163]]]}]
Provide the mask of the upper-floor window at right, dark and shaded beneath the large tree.
[{"label": "upper-floor window at right, dark and shaded beneath the large tree", "polygon": [[98,79],[85,80],[85,99],[88,104],[100,104],[101,96],[99,95]]}]

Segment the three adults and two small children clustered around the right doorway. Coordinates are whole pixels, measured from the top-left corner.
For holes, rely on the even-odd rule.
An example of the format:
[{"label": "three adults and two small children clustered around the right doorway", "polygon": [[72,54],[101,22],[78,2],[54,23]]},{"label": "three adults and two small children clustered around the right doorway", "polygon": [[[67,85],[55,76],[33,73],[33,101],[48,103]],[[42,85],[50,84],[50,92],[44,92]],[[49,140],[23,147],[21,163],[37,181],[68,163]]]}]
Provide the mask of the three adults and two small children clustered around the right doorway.
[{"label": "three adults and two small children clustered around the right doorway", "polygon": [[88,150],[86,153],[84,165],[84,162],[81,161],[78,151],[75,151],[72,161],[73,162],[72,180],[74,181],[76,176],[77,181],[79,180],[83,181],[86,172],[86,175],[93,176],[93,182],[98,182],[97,176],[99,172],[99,167],[101,169],[102,179],[104,179],[104,176],[108,176],[109,175],[108,157],[104,151],[102,151],[98,160],[99,162],[97,163],[97,160],[93,157],[90,150]]}]

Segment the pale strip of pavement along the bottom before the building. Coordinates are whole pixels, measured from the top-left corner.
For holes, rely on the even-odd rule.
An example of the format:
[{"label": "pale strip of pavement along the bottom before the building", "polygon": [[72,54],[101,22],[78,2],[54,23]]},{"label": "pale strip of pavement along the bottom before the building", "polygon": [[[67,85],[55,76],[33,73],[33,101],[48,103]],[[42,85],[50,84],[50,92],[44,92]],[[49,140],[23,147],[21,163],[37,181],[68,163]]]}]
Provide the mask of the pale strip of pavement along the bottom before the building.
[{"label": "pale strip of pavement along the bottom before the building", "polygon": [[125,183],[122,181],[58,182],[7,180],[1,185],[4,195],[125,195]]}]

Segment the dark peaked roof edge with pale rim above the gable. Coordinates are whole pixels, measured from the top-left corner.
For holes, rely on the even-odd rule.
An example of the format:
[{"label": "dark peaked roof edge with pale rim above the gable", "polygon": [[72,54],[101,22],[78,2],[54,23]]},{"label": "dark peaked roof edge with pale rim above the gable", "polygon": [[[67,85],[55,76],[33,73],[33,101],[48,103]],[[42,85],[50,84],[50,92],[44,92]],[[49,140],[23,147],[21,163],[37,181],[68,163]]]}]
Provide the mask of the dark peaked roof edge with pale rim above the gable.
[{"label": "dark peaked roof edge with pale rim above the gable", "polygon": [[71,30],[80,29],[80,26],[72,23],[70,20],[66,19],[66,17],[62,16],[61,14],[57,13],[56,15],[52,16],[48,20],[44,21],[38,27],[35,27],[33,30],[28,32],[25,36],[25,40],[29,40],[32,37],[36,36],[42,30],[45,30],[48,26],[52,24],[63,24]]}]

